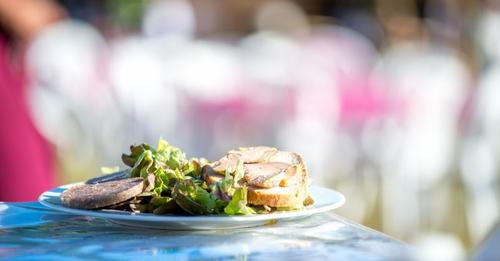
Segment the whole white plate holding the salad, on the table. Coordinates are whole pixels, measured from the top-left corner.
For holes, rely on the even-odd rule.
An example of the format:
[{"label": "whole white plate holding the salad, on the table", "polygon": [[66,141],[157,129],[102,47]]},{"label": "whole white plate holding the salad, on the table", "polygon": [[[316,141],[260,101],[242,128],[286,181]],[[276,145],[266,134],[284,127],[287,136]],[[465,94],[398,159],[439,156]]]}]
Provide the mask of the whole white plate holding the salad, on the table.
[{"label": "whole white plate holding the salad, on the table", "polygon": [[334,190],[311,186],[310,194],[315,203],[303,210],[282,211],[271,214],[258,214],[247,216],[172,216],[154,215],[149,213],[132,213],[127,211],[83,210],[67,208],[61,204],[59,196],[67,188],[75,184],[61,186],[44,192],[38,198],[44,206],[75,215],[105,218],[112,222],[135,227],[149,227],[169,230],[208,230],[253,227],[275,223],[278,220],[291,220],[304,218],[342,206],[345,197]]}]

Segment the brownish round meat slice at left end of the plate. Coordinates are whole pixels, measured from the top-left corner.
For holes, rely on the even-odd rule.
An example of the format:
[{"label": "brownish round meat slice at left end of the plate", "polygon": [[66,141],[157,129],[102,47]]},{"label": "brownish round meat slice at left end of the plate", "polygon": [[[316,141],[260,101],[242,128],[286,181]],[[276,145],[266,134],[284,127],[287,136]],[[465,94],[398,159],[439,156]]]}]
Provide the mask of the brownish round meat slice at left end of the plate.
[{"label": "brownish round meat slice at left end of the plate", "polygon": [[143,178],[76,185],[61,194],[61,201],[70,208],[96,209],[131,199],[139,195],[143,188]]}]

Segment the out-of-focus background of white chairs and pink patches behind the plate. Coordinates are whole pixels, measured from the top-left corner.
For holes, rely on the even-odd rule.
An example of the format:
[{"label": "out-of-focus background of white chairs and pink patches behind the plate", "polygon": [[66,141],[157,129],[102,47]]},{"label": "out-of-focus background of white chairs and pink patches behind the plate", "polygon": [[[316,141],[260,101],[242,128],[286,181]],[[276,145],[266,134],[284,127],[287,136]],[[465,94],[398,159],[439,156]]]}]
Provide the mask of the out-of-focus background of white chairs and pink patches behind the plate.
[{"label": "out-of-focus background of white chairs and pink patches behind the plate", "polygon": [[53,4],[24,61],[57,184],[159,137],[210,160],[270,145],[423,259],[466,258],[498,222],[500,1]]}]

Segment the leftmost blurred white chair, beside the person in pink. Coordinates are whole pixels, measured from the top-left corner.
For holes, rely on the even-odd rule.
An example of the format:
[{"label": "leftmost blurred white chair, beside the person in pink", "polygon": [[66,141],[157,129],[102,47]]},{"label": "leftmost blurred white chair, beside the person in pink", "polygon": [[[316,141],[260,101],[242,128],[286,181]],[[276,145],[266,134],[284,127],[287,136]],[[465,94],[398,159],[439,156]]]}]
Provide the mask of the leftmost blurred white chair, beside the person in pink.
[{"label": "leftmost blurred white chair, beside the person in pink", "polygon": [[93,27],[72,20],[47,28],[29,46],[31,109],[37,128],[56,147],[61,182],[95,175],[113,147],[99,145],[109,142],[103,134],[120,119],[102,70],[106,48]]}]

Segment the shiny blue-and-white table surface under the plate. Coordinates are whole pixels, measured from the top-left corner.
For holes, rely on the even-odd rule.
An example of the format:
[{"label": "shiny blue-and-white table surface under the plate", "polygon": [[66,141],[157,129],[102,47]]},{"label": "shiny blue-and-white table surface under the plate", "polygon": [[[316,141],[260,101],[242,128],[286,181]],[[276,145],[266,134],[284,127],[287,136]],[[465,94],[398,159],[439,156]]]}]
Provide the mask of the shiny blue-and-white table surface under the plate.
[{"label": "shiny blue-and-white table surface under the plate", "polygon": [[254,228],[168,231],[0,202],[0,259],[407,260],[411,252],[333,212]]}]

